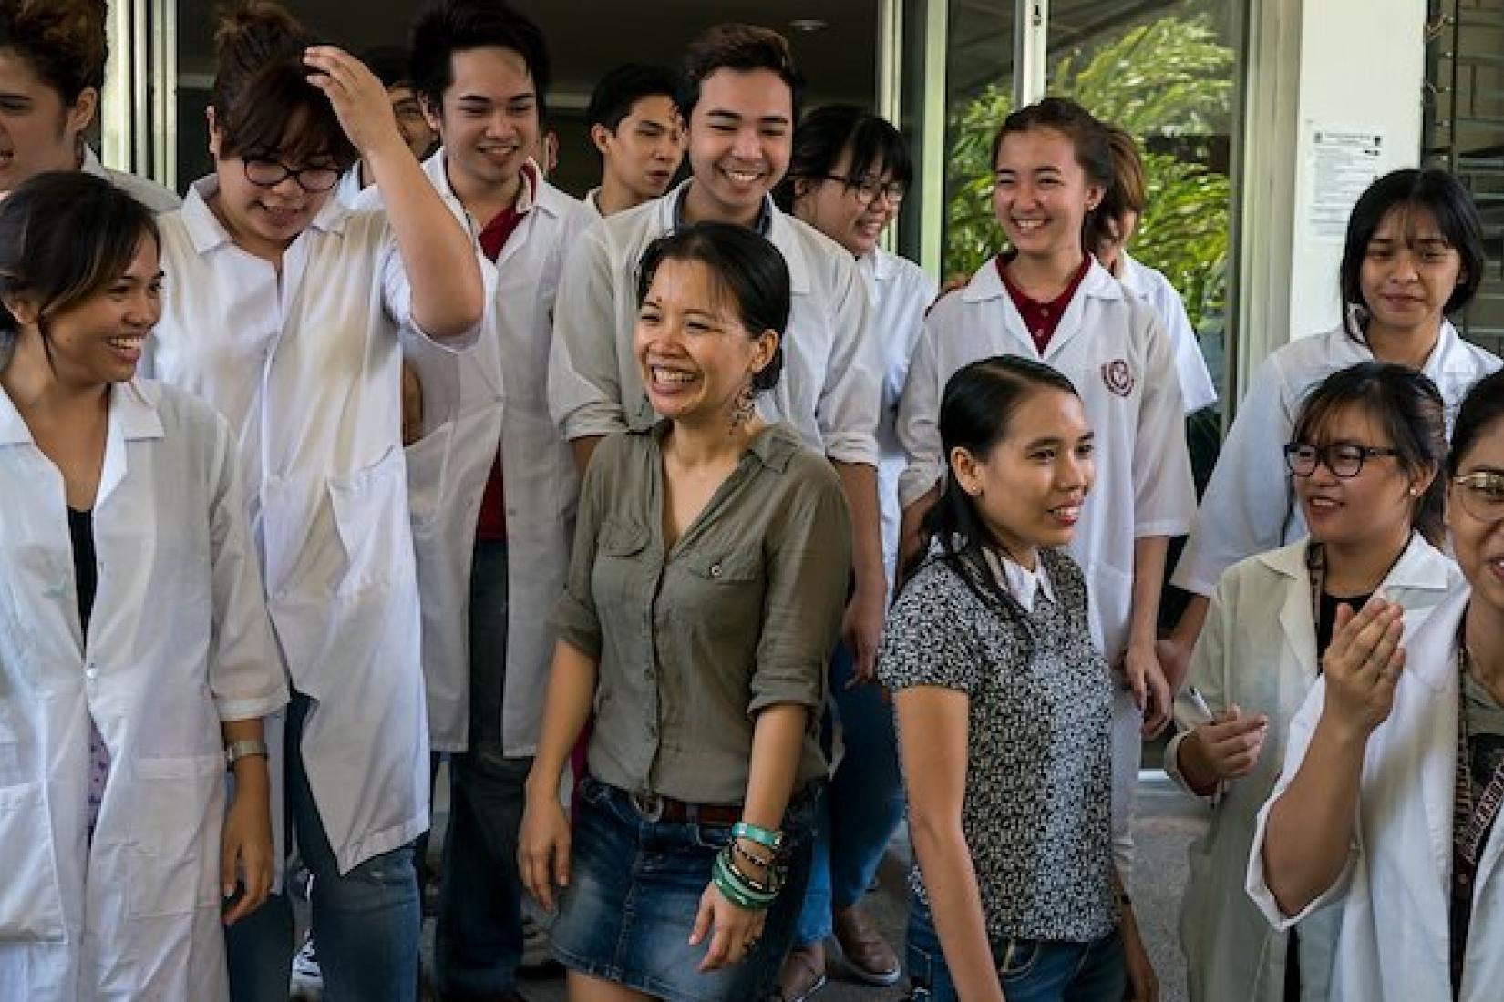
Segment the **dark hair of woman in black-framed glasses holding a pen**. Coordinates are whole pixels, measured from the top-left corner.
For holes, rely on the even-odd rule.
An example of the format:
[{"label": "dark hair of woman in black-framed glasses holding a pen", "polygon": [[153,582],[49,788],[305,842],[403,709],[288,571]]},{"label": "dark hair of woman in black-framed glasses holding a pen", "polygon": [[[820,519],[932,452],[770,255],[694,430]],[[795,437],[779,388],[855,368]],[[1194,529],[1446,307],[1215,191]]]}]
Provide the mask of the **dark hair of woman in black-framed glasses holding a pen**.
[{"label": "dark hair of woman in black-framed glasses holding a pen", "polygon": [[1441,467],[1447,460],[1447,404],[1430,377],[1408,365],[1358,362],[1324,379],[1301,401],[1290,428],[1292,442],[1314,443],[1339,412],[1360,407],[1393,443],[1396,461],[1409,476],[1432,470],[1426,491],[1411,505],[1411,529],[1432,545],[1441,545],[1447,485]]}]

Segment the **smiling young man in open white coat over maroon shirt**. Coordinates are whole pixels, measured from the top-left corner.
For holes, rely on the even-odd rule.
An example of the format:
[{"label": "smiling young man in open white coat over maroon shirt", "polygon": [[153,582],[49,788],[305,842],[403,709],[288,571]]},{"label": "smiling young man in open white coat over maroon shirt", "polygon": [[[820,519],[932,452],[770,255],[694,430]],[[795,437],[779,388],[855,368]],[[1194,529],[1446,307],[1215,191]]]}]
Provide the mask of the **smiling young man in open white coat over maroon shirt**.
[{"label": "smiling young man in open white coat over maroon shirt", "polygon": [[495,264],[475,353],[408,355],[426,433],[408,469],[426,496],[414,538],[430,569],[429,729],[456,753],[435,960],[445,999],[516,999],[517,825],[579,487],[543,388],[564,249],[590,215],[531,158],[549,56],[529,20],[492,0],[441,0],[414,26],[412,83],[441,140],[424,171]]}]

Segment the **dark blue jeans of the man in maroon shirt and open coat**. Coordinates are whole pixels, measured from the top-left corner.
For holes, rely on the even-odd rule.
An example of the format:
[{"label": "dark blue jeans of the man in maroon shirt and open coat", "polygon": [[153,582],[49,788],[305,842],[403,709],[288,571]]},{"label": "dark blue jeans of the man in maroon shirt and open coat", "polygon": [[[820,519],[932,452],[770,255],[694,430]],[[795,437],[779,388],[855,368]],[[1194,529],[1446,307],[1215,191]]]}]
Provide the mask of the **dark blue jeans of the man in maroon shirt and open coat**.
[{"label": "dark blue jeans of the man in maroon shirt and open coat", "polygon": [[502,754],[507,544],[478,539],[469,592],[469,750],[450,757],[435,966],[445,993],[513,990],[522,961],[517,831],[532,759]]}]

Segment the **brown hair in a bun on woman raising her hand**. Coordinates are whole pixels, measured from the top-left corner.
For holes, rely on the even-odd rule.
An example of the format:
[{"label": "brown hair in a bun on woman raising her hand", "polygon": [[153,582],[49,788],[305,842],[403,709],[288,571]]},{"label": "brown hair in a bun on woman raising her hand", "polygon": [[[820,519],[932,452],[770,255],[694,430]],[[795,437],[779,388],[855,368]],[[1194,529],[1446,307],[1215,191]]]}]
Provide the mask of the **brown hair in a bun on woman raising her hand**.
[{"label": "brown hair in a bun on woman raising her hand", "polygon": [[272,0],[247,0],[214,33],[214,113],[220,158],[326,159],[340,170],[358,155],[334,107],[308,83],[304,50],[314,39]]}]

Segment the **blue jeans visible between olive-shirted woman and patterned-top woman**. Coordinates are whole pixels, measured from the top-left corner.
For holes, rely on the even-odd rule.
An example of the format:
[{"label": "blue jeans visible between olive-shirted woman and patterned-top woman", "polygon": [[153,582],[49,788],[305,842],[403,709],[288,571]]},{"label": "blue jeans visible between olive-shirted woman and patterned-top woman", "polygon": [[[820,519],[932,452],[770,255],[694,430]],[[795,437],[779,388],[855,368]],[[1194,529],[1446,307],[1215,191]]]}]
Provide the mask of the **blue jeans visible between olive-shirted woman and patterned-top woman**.
[{"label": "blue jeans visible between olive-shirted woman and patterned-top woman", "polygon": [[815,814],[815,859],[794,931],[797,945],[830,934],[832,909],[851,907],[872,885],[893,829],[904,820],[904,777],[898,765],[893,708],[877,685],[847,688],[851,652],[838,644],[830,658],[830,702],[824,745],[830,756],[833,720],[841,721],[845,754]]}]

